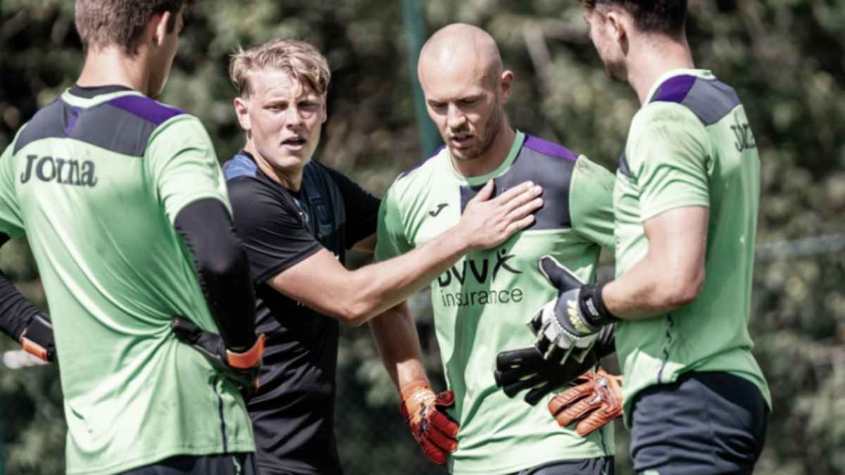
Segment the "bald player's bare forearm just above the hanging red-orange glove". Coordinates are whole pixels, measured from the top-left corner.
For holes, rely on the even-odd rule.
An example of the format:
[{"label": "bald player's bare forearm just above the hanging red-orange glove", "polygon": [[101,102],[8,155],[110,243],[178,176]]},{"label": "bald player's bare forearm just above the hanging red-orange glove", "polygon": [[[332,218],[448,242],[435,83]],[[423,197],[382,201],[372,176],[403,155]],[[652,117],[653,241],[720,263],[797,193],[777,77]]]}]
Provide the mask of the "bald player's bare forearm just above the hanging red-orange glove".
[{"label": "bald player's bare forearm just above the hanging red-orange glove", "polygon": [[397,390],[412,381],[428,381],[423,366],[417,326],[406,303],[390,308],[370,320],[370,330],[379,348],[384,369]]}]

